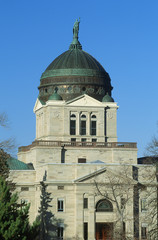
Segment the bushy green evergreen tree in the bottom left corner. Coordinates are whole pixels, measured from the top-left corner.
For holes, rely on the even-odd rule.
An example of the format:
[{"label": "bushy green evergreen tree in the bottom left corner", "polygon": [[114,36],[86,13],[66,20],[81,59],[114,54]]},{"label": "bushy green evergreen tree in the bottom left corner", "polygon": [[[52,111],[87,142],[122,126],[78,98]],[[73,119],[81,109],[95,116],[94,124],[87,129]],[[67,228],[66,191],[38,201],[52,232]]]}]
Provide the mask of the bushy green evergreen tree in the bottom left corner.
[{"label": "bushy green evergreen tree in the bottom left corner", "polygon": [[29,204],[18,204],[18,196],[12,194],[4,177],[0,176],[0,239],[35,239],[39,222],[29,224]]}]

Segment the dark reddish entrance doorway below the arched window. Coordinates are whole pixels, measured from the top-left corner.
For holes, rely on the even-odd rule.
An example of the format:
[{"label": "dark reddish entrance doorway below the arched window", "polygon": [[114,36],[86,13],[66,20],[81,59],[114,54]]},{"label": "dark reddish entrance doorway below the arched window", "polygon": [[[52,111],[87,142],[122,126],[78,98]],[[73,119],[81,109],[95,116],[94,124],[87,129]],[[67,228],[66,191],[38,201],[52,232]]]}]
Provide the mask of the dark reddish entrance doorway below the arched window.
[{"label": "dark reddish entrance doorway below the arched window", "polygon": [[96,223],[96,240],[112,240],[113,223]]}]

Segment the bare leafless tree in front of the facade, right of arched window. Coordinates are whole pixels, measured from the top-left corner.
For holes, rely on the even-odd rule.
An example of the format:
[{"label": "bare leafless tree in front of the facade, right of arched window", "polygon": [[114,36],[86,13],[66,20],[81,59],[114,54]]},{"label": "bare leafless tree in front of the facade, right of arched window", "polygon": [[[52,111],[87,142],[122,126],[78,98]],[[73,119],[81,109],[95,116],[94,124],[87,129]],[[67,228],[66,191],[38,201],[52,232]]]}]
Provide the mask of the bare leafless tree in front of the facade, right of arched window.
[{"label": "bare leafless tree in front of the facade, right of arched window", "polygon": [[[135,191],[139,189],[137,181],[133,179],[133,168],[120,165],[119,172],[107,170],[104,179],[95,179],[96,195],[107,199],[114,206],[115,223],[112,239],[133,239],[133,210],[138,211],[138,202],[133,206]],[[128,223],[128,226],[125,224]],[[126,228],[126,230],[125,230]]]}]

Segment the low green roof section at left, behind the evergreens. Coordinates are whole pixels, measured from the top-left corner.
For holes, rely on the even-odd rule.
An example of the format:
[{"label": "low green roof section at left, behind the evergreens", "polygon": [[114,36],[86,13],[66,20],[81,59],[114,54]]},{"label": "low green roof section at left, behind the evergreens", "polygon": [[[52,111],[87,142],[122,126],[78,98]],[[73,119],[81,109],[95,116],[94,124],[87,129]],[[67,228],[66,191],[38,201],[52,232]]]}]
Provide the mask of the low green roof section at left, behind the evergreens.
[{"label": "low green roof section at left, behind the evergreens", "polygon": [[7,164],[10,170],[33,170],[32,164],[26,164],[16,158],[8,158]]}]

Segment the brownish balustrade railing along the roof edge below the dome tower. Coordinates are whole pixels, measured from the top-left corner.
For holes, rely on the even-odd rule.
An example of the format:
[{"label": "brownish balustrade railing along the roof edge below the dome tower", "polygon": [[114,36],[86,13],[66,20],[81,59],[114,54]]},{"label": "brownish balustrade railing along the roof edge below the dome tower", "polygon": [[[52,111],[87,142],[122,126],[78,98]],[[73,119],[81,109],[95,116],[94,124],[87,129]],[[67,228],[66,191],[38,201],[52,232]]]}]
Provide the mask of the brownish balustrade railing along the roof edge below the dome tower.
[{"label": "brownish balustrade railing along the roof edge below the dome tower", "polygon": [[29,151],[33,147],[84,147],[84,148],[137,148],[136,143],[129,142],[66,142],[39,140],[31,145],[19,147],[19,152]]}]

